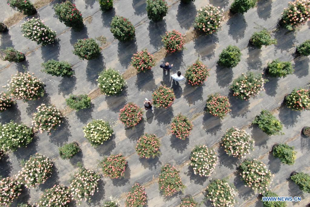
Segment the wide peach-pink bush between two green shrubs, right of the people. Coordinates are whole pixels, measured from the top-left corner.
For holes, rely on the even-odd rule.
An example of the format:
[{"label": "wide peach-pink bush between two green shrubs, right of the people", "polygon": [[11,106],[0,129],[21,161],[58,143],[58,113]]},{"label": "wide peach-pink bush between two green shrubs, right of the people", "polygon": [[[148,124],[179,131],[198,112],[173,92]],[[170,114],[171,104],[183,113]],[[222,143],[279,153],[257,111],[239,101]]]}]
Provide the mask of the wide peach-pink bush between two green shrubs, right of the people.
[{"label": "wide peach-pink bush between two green shrubs, right of the people", "polygon": [[263,79],[262,74],[255,74],[253,72],[242,73],[230,85],[233,92],[232,95],[247,101],[250,97],[254,97],[264,90],[264,83],[266,81],[266,79]]}]

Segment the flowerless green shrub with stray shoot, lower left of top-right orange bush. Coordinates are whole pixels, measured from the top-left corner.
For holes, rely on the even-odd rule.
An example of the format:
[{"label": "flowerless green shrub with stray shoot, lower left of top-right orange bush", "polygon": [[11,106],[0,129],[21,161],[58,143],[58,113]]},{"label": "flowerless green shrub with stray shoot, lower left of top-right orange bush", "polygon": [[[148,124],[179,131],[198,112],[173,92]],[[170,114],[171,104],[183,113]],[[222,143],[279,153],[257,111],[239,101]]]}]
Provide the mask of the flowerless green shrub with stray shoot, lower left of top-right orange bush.
[{"label": "flowerless green shrub with stray shoot, lower left of top-right orange bush", "polygon": [[259,32],[254,32],[250,38],[250,43],[259,49],[264,45],[265,47],[277,44],[276,39],[272,39],[267,29],[262,29]]}]

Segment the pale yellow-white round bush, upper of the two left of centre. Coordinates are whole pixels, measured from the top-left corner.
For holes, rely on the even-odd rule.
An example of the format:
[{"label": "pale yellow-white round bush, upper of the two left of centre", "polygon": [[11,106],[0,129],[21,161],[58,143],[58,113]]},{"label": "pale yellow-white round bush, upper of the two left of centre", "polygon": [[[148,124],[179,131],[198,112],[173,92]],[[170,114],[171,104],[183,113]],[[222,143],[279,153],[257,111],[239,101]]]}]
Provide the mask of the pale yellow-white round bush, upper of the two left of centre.
[{"label": "pale yellow-white round bush, upper of the two left of centre", "polygon": [[113,68],[109,68],[108,70],[99,73],[97,81],[101,92],[108,96],[122,92],[126,85],[123,76]]}]

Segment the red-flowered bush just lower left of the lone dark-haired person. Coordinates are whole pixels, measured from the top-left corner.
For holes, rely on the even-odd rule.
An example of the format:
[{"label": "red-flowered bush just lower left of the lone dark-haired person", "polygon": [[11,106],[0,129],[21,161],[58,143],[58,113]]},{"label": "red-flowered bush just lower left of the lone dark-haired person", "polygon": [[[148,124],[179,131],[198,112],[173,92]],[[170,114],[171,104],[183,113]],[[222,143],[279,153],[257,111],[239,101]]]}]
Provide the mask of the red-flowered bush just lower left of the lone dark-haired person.
[{"label": "red-flowered bush just lower left of the lone dark-haired person", "polygon": [[119,120],[127,127],[134,127],[137,125],[142,120],[142,116],[142,109],[131,102],[119,110]]}]

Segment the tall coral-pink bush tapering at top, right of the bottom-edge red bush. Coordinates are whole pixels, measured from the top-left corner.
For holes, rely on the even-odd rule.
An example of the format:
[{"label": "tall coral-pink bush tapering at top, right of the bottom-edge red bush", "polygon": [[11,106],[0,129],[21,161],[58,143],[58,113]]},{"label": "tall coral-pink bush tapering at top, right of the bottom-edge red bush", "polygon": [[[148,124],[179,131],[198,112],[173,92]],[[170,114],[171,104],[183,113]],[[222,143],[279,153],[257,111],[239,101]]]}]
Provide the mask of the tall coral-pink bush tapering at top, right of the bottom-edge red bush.
[{"label": "tall coral-pink bush tapering at top, right of the bottom-edge red bush", "polygon": [[183,185],[180,175],[180,171],[170,164],[162,166],[160,175],[158,178],[159,191],[164,196],[171,196],[177,191],[181,191],[185,188]]}]

